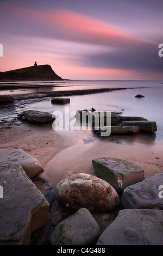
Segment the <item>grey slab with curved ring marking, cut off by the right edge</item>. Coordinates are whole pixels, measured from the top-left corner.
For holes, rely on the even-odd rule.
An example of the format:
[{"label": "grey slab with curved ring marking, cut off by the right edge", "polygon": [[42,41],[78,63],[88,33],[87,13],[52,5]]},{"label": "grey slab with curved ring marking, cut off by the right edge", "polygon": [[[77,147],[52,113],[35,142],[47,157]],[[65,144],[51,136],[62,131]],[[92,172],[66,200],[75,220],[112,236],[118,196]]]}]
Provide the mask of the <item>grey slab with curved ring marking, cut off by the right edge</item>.
[{"label": "grey slab with curved ring marking, cut off by the right edge", "polygon": [[163,198],[161,196],[159,198],[160,185],[163,185],[163,173],[155,174],[137,184],[128,186],[122,193],[122,207],[126,209],[163,210]]}]

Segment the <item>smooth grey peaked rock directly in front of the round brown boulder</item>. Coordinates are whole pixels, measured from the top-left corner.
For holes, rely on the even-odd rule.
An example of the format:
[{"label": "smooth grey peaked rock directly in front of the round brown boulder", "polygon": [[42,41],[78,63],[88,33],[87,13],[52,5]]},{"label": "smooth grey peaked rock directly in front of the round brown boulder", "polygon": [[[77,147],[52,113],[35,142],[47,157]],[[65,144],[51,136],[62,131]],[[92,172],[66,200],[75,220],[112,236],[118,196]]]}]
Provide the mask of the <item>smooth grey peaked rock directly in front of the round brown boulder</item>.
[{"label": "smooth grey peaked rock directly in front of the round brown boulder", "polygon": [[95,219],[87,209],[80,208],[54,228],[50,240],[52,245],[92,245],[99,235]]}]

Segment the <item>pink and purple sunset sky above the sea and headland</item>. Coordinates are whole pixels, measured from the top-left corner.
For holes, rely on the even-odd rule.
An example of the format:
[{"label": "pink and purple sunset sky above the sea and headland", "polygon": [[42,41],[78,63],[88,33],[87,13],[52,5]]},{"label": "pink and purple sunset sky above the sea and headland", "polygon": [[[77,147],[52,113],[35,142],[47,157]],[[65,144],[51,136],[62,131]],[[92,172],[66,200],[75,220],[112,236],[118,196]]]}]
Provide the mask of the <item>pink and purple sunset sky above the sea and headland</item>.
[{"label": "pink and purple sunset sky above the sea and headland", "polygon": [[49,64],[74,80],[162,80],[162,0],[0,0],[0,71]]}]

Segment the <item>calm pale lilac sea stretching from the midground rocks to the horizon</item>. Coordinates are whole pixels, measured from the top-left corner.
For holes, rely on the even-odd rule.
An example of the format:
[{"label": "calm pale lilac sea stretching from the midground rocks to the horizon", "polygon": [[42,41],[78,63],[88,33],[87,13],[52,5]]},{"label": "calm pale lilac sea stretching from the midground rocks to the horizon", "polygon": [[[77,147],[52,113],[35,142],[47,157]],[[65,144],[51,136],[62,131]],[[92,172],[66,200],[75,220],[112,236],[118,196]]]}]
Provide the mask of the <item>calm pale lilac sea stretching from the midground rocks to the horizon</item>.
[{"label": "calm pale lilac sea stretching from the midground rocks to the horizon", "polygon": [[[4,84],[4,82],[0,83]],[[7,84],[9,82],[6,82]],[[12,86],[12,84],[11,84]],[[24,88],[16,89],[16,86]],[[30,87],[30,88],[28,88]],[[68,96],[70,103],[66,105],[54,105],[51,98],[40,100],[21,101],[14,103],[14,107],[0,106],[0,120],[16,118],[17,114],[27,109],[53,113],[61,111],[65,113],[65,107],[70,112],[95,108],[97,111],[115,111],[123,116],[144,117],[155,121],[157,131],[155,132],[155,143],[163,142],[163,81],[130,81],[130,80],[64,80],[64,81],[24,81],[14,82],[13,88],[0,90],[1,95],[16,95],[27,93],[57,92],[64,90],[83,90],[97,88],[116,88],[111,92],[103,92],[87,95]],[[125,88],[125,89],[124,89]],[[144,97],[137,98],[137,94]],[[65,97],[65,96],[64,96]]]}]

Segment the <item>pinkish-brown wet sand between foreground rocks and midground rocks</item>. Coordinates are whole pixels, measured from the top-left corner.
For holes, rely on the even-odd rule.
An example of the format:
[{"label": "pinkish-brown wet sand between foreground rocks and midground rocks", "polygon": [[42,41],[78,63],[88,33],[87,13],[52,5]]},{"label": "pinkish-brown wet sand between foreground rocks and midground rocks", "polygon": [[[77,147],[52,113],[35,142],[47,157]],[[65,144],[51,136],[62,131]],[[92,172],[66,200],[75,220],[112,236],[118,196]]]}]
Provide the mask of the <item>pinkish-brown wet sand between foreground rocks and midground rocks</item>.
[{"label": "pinkish-brown wet sand between foreground rocks and midground rocks", "polygon": [[145,178],[163,172],[163,147],[151,135],[97,137],[92,131],[54,131],[52,124],[0,126],[1,148],[21,148],[40,161],[41,178],[55,187],[74,173],[95,175],[92,159],[116,157],[138,164]]}]

